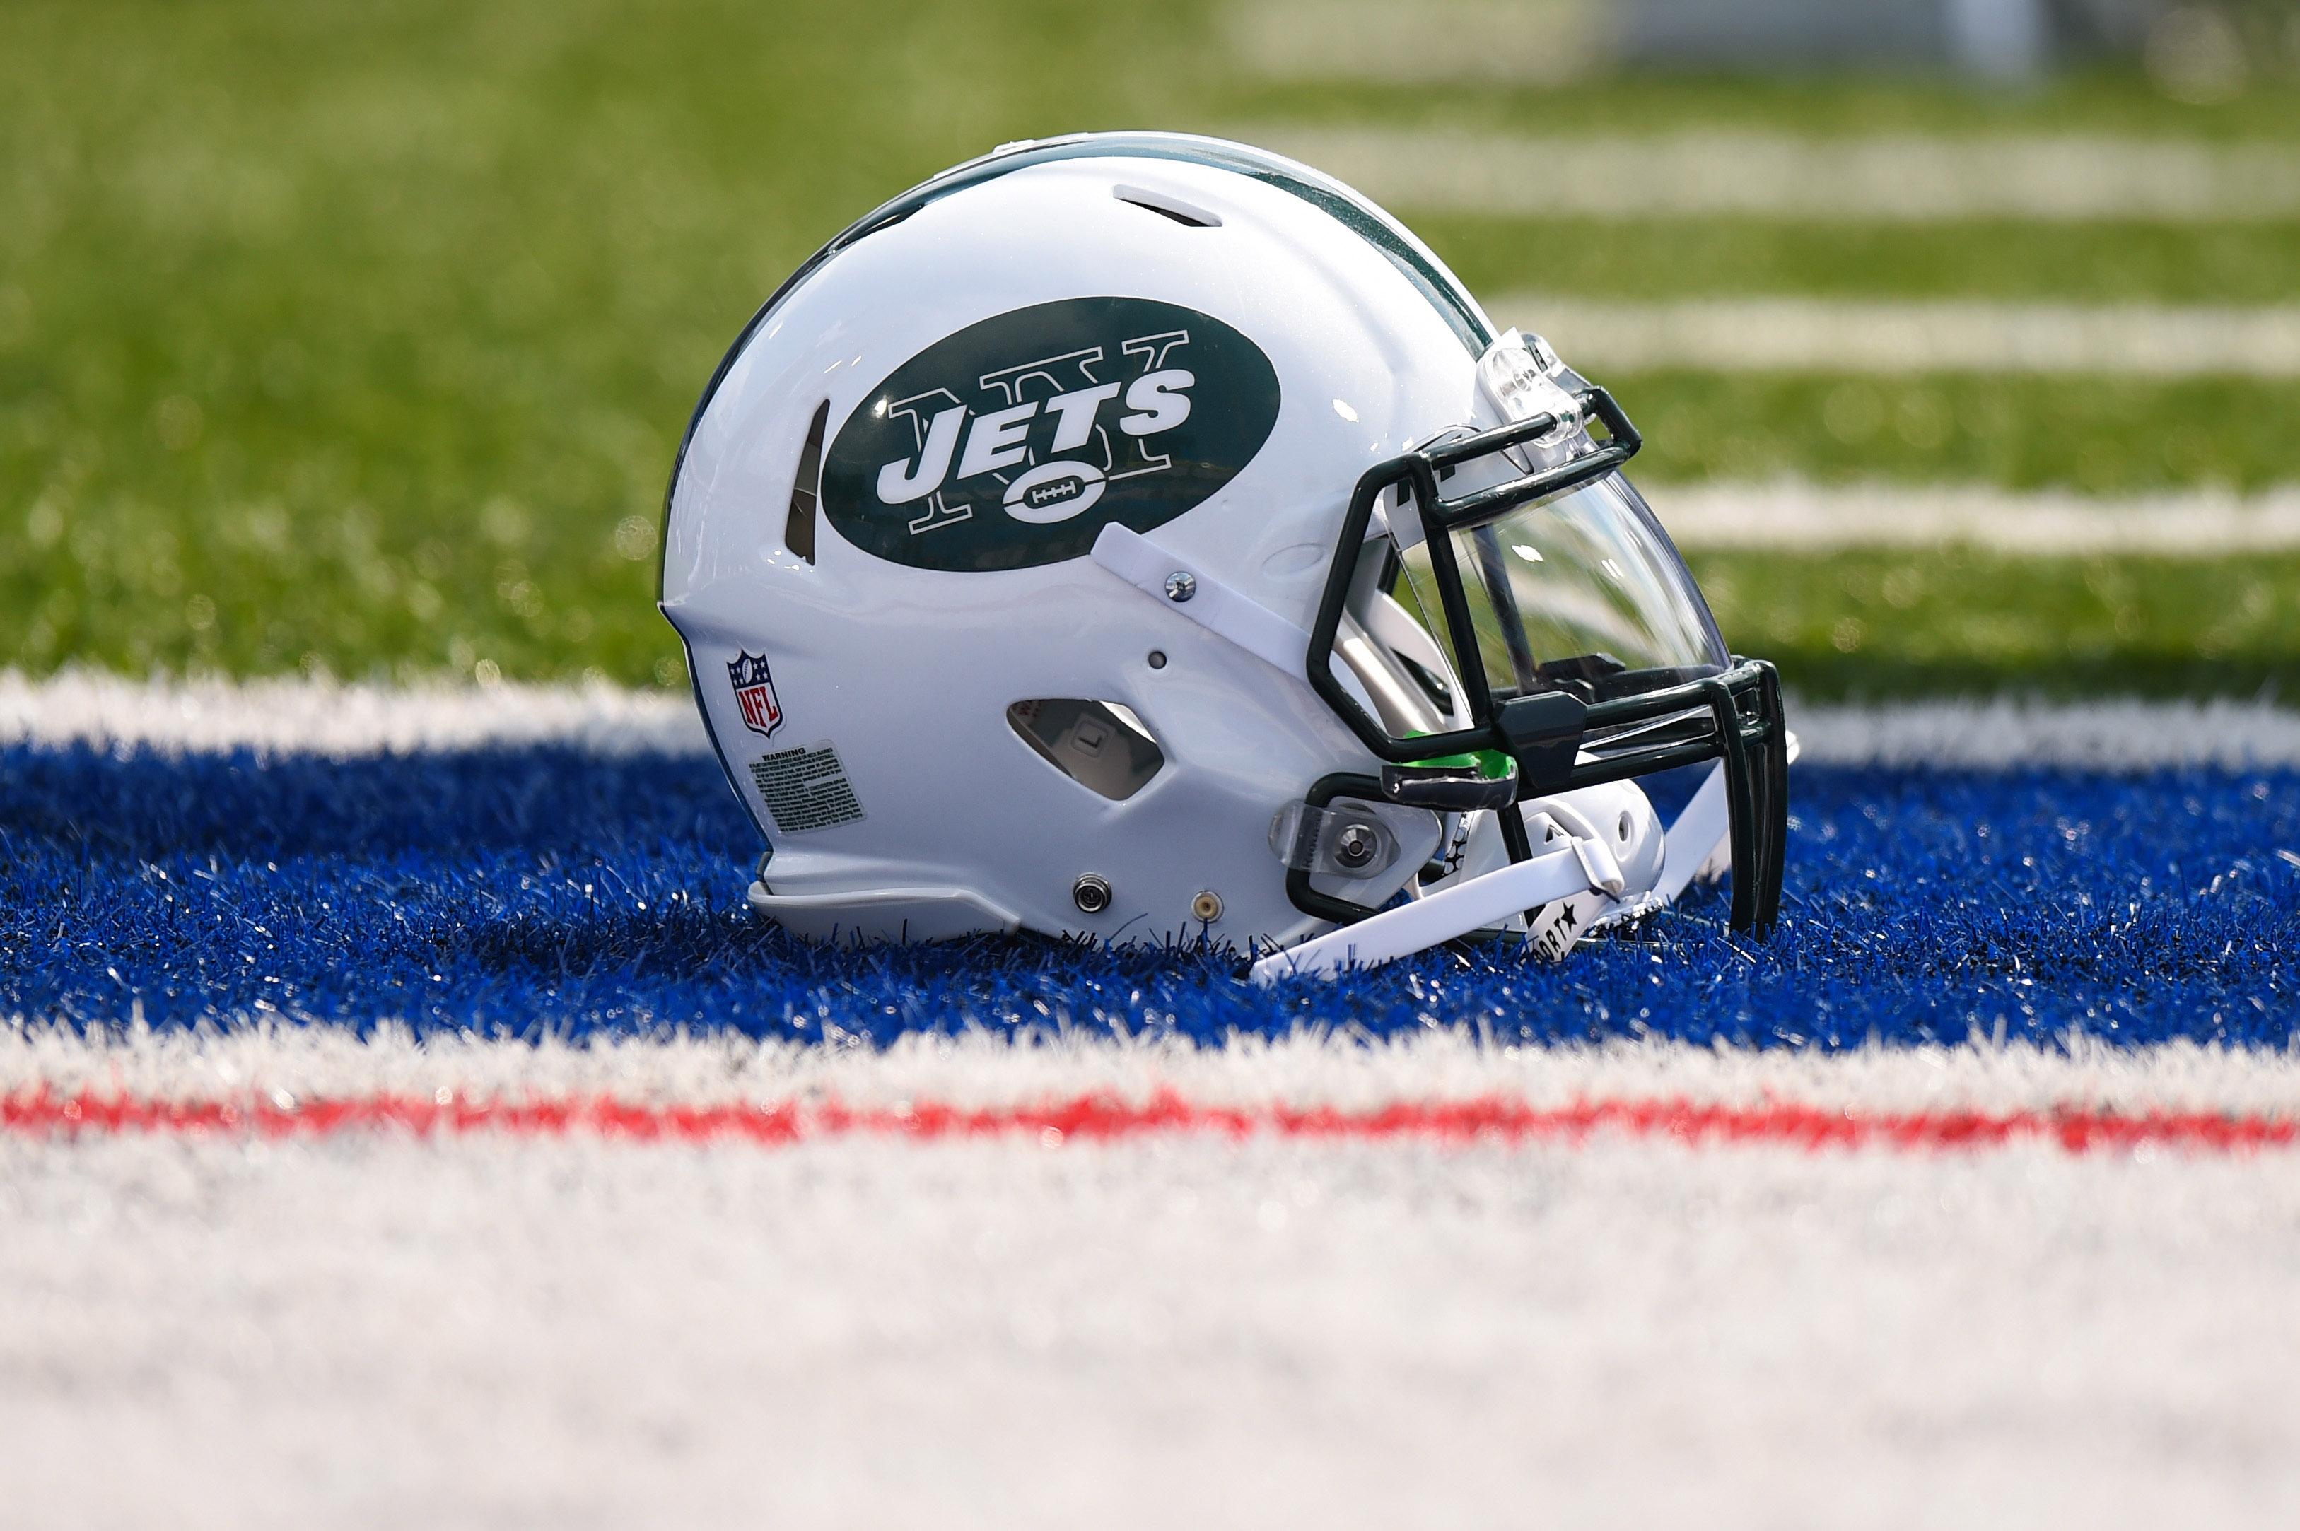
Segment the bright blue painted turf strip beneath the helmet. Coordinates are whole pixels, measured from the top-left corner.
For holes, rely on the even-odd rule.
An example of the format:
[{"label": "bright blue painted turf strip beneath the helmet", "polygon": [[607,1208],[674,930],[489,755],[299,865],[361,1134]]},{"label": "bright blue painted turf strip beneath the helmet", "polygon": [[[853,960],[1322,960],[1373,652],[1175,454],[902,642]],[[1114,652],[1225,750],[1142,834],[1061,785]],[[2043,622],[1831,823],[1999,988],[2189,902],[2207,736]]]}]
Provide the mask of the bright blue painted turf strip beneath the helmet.
[{"label": "bright blue painted turf strip beneath the helmet", "polygon": [[890,1037],[1072,1025],[1479,1023],[1856,1046],[2006,1037],[2286,1044],[2300,775],[1799,768],[1785,929],[1707,894],[1548,968],[1433,952],[1270,993],[1219,952],[1046,940],[837,954],[743,908],[718,768],[559,749],[315,761],[0,749],[0,1014],[156,1025],[281,1011],[531,1034],[667,1025]]}]

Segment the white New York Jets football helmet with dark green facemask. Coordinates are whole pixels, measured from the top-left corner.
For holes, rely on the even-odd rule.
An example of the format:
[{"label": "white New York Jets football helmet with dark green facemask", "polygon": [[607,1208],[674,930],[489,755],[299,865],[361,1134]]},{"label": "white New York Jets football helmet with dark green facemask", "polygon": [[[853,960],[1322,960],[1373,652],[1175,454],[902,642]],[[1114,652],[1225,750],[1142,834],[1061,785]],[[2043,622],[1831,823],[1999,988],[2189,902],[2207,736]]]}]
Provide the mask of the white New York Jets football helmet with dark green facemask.
[{"label": "white New York Jets football helmet with dark green facemask", "polygon": [[[678,453],[662,611],[823,940],[1562,954],[1780,897],[1787,729],[1638,432],[1394,218],[1175,133],[1007,145],[823,246]],[[1716,761],[1663,832],[1628,777]],[[1713,853],[1718,853],[1713,857]]]}]

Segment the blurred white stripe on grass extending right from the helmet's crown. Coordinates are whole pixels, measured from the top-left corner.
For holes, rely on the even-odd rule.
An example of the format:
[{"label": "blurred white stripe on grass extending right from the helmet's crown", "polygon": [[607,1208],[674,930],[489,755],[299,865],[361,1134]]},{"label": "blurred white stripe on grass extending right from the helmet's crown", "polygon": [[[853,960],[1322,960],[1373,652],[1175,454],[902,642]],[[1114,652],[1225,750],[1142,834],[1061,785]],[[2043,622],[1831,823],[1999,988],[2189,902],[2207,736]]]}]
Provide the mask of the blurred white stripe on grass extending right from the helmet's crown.
[{"label": "blurred white stripe on grass extending right from the helmet's crown", "polygon": [[1235,133],[1394,211],[1585,218],[2261,221],[2300,216],[2300,149],[2178,138],[1762,131],[1504,136],[1254,124]]}]

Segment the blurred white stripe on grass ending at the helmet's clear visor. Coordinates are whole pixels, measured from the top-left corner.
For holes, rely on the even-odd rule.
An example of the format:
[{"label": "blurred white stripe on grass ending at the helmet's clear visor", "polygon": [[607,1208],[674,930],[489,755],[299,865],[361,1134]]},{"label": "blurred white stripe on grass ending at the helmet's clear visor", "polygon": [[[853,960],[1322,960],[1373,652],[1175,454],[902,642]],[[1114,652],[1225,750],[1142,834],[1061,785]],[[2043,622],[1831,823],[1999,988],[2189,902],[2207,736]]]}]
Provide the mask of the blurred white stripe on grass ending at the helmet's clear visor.
[{"label": "blurred white stripe on grass ending at the helmet's clear visor", "polygon": [[1960,543],[2008,554],[2226,556],[2300,547],[2300,487],[2091,497],[1950,485],[1644,485],[1679,547],[1822,554]]}]

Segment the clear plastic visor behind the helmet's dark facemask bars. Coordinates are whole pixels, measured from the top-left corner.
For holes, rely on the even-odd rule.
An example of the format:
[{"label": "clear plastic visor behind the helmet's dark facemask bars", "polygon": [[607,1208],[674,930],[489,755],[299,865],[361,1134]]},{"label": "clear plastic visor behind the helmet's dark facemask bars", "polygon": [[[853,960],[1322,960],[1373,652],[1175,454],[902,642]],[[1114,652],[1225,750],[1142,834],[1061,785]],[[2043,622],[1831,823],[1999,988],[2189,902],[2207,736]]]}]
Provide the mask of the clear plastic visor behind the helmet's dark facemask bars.
[{"label": "clear plastic visor behind the helmet's dark facemask bars", "polygon": [[[1610,701],[1730,662],[1693,572],[1619,474],[1447,538],[1495,699],[1569,690]],[[1458,664],[1428,545],[1403,566],[1396,595]]]}]

